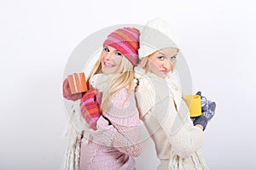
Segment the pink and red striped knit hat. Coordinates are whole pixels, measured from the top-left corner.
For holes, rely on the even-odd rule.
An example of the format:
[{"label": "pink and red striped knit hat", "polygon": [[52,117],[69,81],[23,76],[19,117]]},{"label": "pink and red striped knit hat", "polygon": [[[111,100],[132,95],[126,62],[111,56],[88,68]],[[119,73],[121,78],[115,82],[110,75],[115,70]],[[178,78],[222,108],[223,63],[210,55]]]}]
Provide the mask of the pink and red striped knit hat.
[{"label": "pink and red striped knit hat", "polygon": [[126,59],[131,61],[131,64],[136,66],[138,61],[138,49],[140,31],[136,28],[124,27],[113,31],[108,35],[107,40],[103,42],[103,47],[106,45],[116,48],[121,54],[124,54]]}]

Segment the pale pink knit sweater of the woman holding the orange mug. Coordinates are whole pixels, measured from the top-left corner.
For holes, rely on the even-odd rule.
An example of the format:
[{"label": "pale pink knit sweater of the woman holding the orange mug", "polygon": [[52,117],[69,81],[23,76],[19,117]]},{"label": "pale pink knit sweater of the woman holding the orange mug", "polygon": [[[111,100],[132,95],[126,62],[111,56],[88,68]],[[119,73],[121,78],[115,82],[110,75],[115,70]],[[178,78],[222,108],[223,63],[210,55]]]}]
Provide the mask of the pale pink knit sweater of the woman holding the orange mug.
[{"label": "pale pink knit sweater of the woman holding the orange mug", "polygon": [[[106,76],[97,76],[94,88],[103,92],[108,81]],[[107,77],[108,80],[108,77]],[[105,88],[104,88],[105,87]],[[82,142],[80,152],[81,170],[133,170],[135,160],[133,156],[139,156],[142,144],[139,143],[139,115],[134,93],[129,94],[126,88],[121,88],[113,95],[109,111],[104,112],[97,122],[96,131],[90,133],[90,141]],[[84,135],[86,136],[86,135]],[[87,135],[88,136],[88,135]]]}]

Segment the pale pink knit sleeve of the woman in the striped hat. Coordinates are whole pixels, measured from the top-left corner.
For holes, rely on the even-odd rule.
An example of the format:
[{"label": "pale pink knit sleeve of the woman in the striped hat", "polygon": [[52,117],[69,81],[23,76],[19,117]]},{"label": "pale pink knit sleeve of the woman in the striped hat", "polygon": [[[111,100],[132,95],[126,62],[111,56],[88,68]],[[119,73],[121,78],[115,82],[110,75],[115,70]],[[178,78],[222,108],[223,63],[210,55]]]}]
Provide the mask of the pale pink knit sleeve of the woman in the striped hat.
[{"label": "pale pink knit sleeve of the woman in the striped hat", "polygon": [[121,88],[111,99],[111,107],[97,122],[101,135],[95,138],[100,144],[112,146],[131,156],[139,156],[142,151],[140,142],[139,116],[134,93],[128,96],[126,88]]}]

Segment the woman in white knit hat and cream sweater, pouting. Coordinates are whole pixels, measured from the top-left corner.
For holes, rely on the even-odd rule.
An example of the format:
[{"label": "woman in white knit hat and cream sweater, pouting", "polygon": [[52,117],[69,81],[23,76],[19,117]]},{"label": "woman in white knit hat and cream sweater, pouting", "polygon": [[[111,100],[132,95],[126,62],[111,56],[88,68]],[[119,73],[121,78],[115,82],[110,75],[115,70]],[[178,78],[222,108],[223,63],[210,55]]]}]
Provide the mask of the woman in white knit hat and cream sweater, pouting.
[{"label": "woman in white knit hat and cream sweater, pouting", "polygon": [[158,169],[207,169],[200,149],[216,105],[212,102],[212,111],[191,121],[181,88],[172,79],[179,49],[169,38],[170,30],[160,19],[150,21],[141,32],[141,61],[135,68],[140,118],[154,140]]}]

